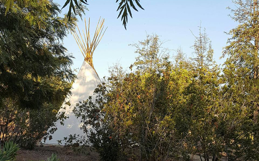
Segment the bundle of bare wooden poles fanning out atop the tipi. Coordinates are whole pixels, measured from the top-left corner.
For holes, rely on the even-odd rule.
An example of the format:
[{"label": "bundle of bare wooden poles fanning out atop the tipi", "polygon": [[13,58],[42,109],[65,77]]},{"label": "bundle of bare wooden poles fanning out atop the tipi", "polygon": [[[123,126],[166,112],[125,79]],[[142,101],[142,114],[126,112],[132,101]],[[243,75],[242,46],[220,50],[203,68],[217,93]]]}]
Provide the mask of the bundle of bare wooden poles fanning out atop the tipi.
[{"label": "bundle of bare wooden poles fanning out atop the tipi", "polygon": [[[80,51],[82,52],[85,61],[93,68],[93,70],[95,71],[95,73],[97,74],[96,70],[94,69],[93,66],[93,52],[95,50],[95,48],[97,47],[97,45],[99,44],[99,42],[101,41],[105,31],[107,28],[105,28],[104,32],[103,32],[103,28],[104,28],[104,21],[105,19],[101,19],[101,17],[99,18],[97,27],[95,29],[95,33],[93,36],[93,39],[90,39],[90,17],[88,20],[88,28],[87,28],[87,24],[86,24],[86,18],[85,18],[85,27],[86,27],[86,33],[84,32],[84,30],[82,30],[84,37],[82,37],[82,34],[77,26],[78,32],[79,32],[79,36],[75,31],[72,31],[72,35],[74,36],[74,39],[80,49]],[[98,78],[99,75],[97,74]],[[100,78],[99,78],[100,79]]]}]

